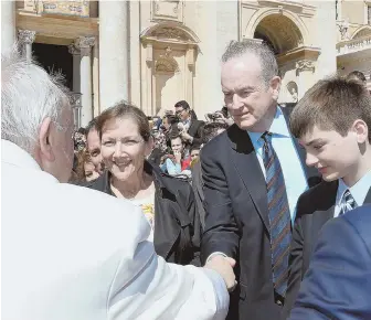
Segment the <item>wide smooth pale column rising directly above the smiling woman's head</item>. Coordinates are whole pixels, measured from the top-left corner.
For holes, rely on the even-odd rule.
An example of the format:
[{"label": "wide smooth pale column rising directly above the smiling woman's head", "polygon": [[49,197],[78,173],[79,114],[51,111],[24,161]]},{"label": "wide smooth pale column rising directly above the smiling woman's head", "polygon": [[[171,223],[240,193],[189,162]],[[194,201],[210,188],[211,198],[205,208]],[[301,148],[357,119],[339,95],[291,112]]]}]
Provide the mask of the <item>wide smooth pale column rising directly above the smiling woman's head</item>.
[{"label": "wide smooth pale column rising directly above the smiling woman's head", "polygon": [[129,100],[128,1],[99,1],[100,111]]}]

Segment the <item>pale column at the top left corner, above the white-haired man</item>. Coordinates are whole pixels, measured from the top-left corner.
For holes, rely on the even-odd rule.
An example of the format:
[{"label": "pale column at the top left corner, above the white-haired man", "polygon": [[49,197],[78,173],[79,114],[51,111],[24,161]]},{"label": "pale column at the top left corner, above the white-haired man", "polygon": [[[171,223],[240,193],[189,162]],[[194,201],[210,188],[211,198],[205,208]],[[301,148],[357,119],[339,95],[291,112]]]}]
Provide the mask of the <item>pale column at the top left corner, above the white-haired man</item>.
[{"label": "pale column at the top left corner, above the white-haired man", "polygon": [[1,51],[15,42],[15,1],[1,1]]}]

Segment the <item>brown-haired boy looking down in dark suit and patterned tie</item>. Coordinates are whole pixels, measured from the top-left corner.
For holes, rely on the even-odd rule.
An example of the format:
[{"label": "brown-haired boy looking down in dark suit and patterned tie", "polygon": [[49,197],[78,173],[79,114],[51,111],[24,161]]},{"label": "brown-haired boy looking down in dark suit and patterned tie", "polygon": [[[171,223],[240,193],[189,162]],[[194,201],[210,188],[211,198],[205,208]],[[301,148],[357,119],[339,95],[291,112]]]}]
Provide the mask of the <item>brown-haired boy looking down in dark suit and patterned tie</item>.
[{"label": "brown-haired boy looking down in dark suit and patterned tie", "polygon": [[370,106],[361,83],[333,77],[318,82],[292,113],[292,132],[307,151],[307,164],[317,168],[325,181],[297,204],[283,319],[294,306],[321,226],[371,203]]}]

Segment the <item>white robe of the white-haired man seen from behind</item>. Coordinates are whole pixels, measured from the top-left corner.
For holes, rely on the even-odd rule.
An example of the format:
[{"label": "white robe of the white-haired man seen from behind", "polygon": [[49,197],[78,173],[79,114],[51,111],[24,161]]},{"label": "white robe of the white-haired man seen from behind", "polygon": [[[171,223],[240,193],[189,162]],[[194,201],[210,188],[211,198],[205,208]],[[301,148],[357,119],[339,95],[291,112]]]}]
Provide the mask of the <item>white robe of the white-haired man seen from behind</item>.
[{"label": "white robe of the white-haired man seen from behind", "polygon": [[9,141],[1,153],[2,319],[225,318],[220,275],[158,257],[138,207],[60,183]]}]

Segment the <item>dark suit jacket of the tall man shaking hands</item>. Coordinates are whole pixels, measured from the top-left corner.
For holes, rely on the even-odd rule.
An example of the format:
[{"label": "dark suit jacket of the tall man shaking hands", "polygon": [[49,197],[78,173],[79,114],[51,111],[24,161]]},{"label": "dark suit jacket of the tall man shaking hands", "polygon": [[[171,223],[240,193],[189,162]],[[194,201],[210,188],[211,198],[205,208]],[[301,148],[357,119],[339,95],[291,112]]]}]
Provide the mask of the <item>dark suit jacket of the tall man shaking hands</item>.
[{"label": "dark suit jacket of the tall man shaking hands", "polygon": [[[305,166],[305,151],[294,141],[309,185],[318,183],[318,171]],[[231,319],[278,319],[282,301],[272,280],[266,182],[248,134],[231,126],[205,145],[201,161],[206,212],[201,260],[214,252],[236,258],[240,286],[231,296]]]}]

